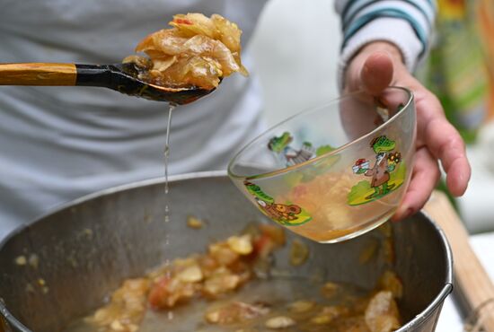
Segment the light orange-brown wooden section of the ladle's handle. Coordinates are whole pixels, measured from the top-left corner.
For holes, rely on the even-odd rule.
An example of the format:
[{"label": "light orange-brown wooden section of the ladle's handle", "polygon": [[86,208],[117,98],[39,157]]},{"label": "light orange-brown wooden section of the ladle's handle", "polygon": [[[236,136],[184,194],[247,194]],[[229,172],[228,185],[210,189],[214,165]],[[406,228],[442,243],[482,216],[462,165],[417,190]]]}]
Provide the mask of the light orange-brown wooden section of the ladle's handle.
[{"label": "light orange-brown wooden section of the ladle's handle", "polygon": [[74,64],[0,64],[0,85],[75,85]]}]

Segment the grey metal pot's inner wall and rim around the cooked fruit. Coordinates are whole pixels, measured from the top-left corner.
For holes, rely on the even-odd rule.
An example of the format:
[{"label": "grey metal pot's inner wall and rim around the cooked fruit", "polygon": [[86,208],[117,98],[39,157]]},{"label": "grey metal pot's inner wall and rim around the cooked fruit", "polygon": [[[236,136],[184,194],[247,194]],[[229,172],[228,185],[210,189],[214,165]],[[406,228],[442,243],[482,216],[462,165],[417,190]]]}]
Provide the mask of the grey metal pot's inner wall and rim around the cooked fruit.
[{"label": "grey metal pot's inner wall and rim around the cooked fruit", "polygon": [[[171,223],[163,221],[163,179],[156,179],[83,197],[13,232],[0,247],[4,330],[60,331],[101,306],[123,279],[142,275],[165,256],[203,251],[211,240],[263,220],[224,172],[173,177],[168,198]],[[207,220],[207,227],[190,229],[185,222],[189,215]],[[168,246],[166,234],[170,234]],[[359,262],[359,256],[382,236],[383,232],[374,231],[331,245],[304,240],[310,258],[294,273],[317,273],[371,289],[389,262],[384,250],[366,264]],[[287,233],[289,241],[295,238]],[[393,241],[393,269],[404,288],[399,306],[408,321],[399,331],[433,331],[443,301],[453,289],[445,236],[419,213],[393,223]],[[288,249],[279,251],[276,265],[294,269],[287,255]]]}]

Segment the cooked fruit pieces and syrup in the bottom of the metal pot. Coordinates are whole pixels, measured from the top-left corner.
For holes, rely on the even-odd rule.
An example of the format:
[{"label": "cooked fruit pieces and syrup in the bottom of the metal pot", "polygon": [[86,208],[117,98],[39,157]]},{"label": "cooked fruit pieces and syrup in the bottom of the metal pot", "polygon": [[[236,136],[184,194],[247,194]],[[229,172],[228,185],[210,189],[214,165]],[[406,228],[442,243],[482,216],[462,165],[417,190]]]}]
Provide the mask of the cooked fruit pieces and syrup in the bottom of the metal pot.
[{"label": "cooked fruit pieces and syrup in the bottom of the metal pot", "polygon": [[[401,297],[402,285],[392,271],[366,291],[317,273],[300,276],[273,266],[271,253],[286,245],[282,229],[260,224],[242,234],[124,281],[104,307],[66,332],[391,332],[400,327],[394,299]],[[295,244],[290,262],[300,266],[305,260],[293,259]]]}]

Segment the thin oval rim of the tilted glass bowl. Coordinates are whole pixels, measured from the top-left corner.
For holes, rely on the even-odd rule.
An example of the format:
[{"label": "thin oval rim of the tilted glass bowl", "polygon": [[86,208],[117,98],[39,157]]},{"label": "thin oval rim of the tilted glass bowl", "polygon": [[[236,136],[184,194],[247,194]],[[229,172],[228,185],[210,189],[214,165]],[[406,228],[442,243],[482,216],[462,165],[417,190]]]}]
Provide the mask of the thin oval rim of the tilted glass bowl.
[{"label": "thin oval rim of the tilted glass bowl", "polygon": [[348,142],[346,144],[343,144],[340,147],[338,147],[338,148],[336,148],[334,150],[331,150],[330,152],[322,153],[321,155],[318,155],[315,158],[309,159],[308,161],[300,162],[300,163],[297,163],[295,165],[287,166],[285,168],[280,168],[280,169],[277,169],[277,170],[269,170],[268,172],[265,172],[265,173],[260,173],[260,174],[250,175],[250,176],[235,174],[234,171],[232,170],[232,168],[234,166],[234,162],[247,149],[249,149],[252,144],[257,143],[258,140],[260,139],[260,137],[262,137],[263,135],[266,135],[268,132],[272,131],[276,127],[278,127],[278,126],[280,126],[282,124],[285,124],[285,123],[287,123],[288,121],[291,121],[294,118],[301,117],[301,116],[303,116],[306,113],[310,113],[310,112],[312,112],[312,111],[314,111],[316,109],[321,109],[322,107],[329,106],[331,104],[336,104],[340,100],[345,100],[345,99],[347,99],[350,96],[357,95],[357,94],[360,94],[360,93],[364,93],[364,91],[363,90],[359,90],[357,92],[345,93],[345,94],[341,95],[337,99],[326,101],[326,102],[324,102],[324,103],[322,103],[322,104],[320,104],[318,106],[312,107],[310,109],[304,109],[304,110],[302,110],[300,112],[297,112],[295,115],[293,115],[291,117],[288,117],[288,118],[284,119],[283,121],[278,122],[276,125],[274,125],[272,127],[269,127],[268,129],[264,130],[260,135],[257,135],[256,137],[254,137],[253,139],[251,139],[251,141],[249,143],[245,144],[241,150],[239,150],[237,153],[235,153],[234,154],[234,157],[230,160],[230,162],[228,162],[228,166],[226,168],[226,171],[227,171],[228,176],[231,179],[247,179],[247,180],[250,180],[250,179],[266,179],[266,178],[271,178],[273,176],[277,176],[277,175],[280,175],[280,174],[287,173],[287,172],[289,172],[291,170],[296,170],[296,169],[302,168],[305,165],[311,164],[313,162],[318,162],[318,161],[322,160],[323,158],[326,158],[326,157],[331,156],[333,154],[340,153],[342,150],[348,148],[348,146],[353,145],[353,144],[357,144],[358,142],[361,142],[361,141],[369,138],[370,136],[375,135],[376,132],[382,130],[384,127],[389,126],[394,121],[395,118],[398,118],[401,115],[401,113],[404,113],[405,111],[407,111],[409,109],[410,105],[415,100],[415,96],[414,96],[413,92],[410,89],[406,88],[406,87],[392,85],[392,86],[388,86],[386,89],[384,89],[384,91],[386,91],[386,90],[401,90],[402,92],[406,92],[408,94],[409,98],[408,98],[407,102],[405,103],[405,105],[398,112],[396,112],[396,114],[394,114],[393,117],[388,118],[386,121],[384,121],[383,124],[381,124],[378,127],[375,127],[373,130],[371,130],[370,132],[368,132],[366,135],[361,135],[358,138],[354,139],[353,141],[350,141],[350,142]]}]

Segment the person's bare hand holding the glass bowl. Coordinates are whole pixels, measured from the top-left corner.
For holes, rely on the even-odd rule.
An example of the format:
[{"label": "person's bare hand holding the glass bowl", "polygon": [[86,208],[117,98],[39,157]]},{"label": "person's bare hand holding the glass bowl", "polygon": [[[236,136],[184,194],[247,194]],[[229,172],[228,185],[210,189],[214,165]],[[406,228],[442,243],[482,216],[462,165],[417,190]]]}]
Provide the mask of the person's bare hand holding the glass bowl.
[{"label": "person's bare hand holding the glass bowl", "polygon": [[389,85],[409,88],[417,109],[415,163],[407,193],[393,215],[393,220],[400,220],[426,204],[441,176],[439,161],[446,173],[447,188],[456,197],[466,190],[471,168],[462,137],[445,118],[437,97],[408,72],[398,48],[376,41],[360,49],[350,60],[345,73],[345,92],[364,90],[377,96]]}]

